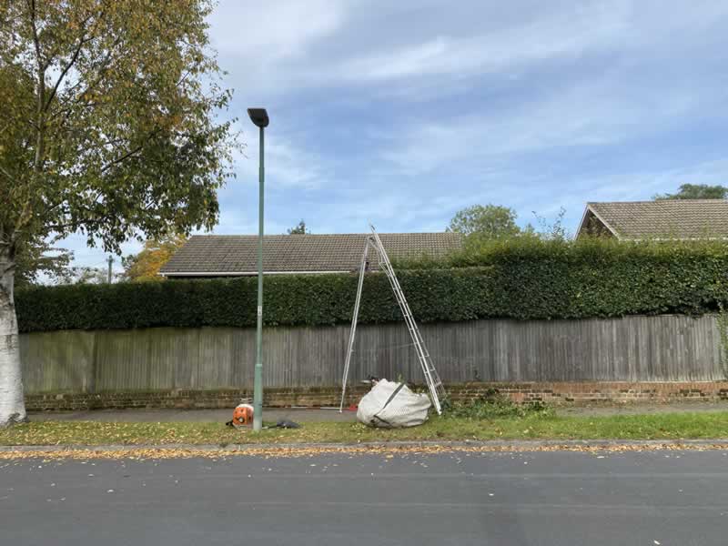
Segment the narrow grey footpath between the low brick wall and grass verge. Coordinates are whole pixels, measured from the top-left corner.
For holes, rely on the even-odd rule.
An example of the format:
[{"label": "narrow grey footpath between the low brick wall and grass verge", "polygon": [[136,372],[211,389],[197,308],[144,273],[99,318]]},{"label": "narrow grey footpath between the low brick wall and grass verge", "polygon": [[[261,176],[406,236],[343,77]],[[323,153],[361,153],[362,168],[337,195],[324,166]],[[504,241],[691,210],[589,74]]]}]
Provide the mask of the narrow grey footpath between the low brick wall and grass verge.
[{"label": "narrow grey footpath between the low brick wall and grass verge", "polygon": [[[30,413],[31,420],[96,420],[116,422],[174,422],[196,421],[225,422],[232,419],[232,408],[229,410],[91,410],[91,411],[50,411]],[[672,404],[640,404],[629,406],[592,406],[562,408],[560,415],[633,415],[637,413],[678,413],[682,411],[728,411],[728,402],[682,402]],[[355,411],[267,408],[264,419],[278,421],[280,419],[298,422],[320,421],[355,421]]]}]

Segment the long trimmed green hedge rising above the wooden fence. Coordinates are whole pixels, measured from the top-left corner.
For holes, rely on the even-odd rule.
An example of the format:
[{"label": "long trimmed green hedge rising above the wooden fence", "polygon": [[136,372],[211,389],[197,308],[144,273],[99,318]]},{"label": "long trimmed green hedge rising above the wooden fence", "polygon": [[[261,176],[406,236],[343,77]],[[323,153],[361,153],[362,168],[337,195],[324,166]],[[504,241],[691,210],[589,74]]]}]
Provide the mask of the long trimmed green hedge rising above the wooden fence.
[{"label": "long trimmed green hedge rising above the wooden fence", "polygon": [[[510,241],[446,262],[398,264],[402,289],[422,322],[584,319],[712,312],[728,300],[728,247]],[[351,319],[357,277],[266,277],[268,325]],[[18,290],[21,331],[147,327],[250,327],[256,278],[174,280]],[[387,278],[369,275],[362,323],[400,319]]]}]

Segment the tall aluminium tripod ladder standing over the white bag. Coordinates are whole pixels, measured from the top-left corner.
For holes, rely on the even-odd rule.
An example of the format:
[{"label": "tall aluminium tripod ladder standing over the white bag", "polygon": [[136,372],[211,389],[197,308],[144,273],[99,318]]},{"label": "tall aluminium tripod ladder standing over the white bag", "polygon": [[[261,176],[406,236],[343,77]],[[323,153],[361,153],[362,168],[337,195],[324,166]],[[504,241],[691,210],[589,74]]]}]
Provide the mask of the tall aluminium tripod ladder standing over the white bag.
[{"label": "tall aluminium tripod ladder standing over the white bag", "polygon": [[359,268],[359,284],[357,286],[357,298],[354,303],[354,315],[351,319],[349,347],[347,349],[346,361],[344,362],[344,378],[341,384],[341,404],[339,405],[339,412],[344,409],[344,398],[346,396],[347,379],[349,376],[349,364],[351,362],[351,355],[354,352],[354,338],[357,332],[357,320],[359,319],[361,288],[364,284],[364,273],[367,269],[367,257],[369,255],[369,247],[371,247],[376,251],[379,268],[385,275],[387,275],[387,278],[389,279],[389,286],[391,286],[394,296],[397,298],[399,309],[402,311],[405,324],[407,324],[407,329],[410,332],[412,345],[415,347],[417,358],[420,360],[420,367],[425,376],[425,382],[430,390],[430,399],[432,399],[432,404],[435,406],[435,410],[437,410],[438,414],[441,414],[442,408],[440,407],[440,398],[445,397],[445,388],[442,385],[442,380],[440,379],[437,369],[435,369],[435,366],[432,364],[430,353],[425,347],[425,342],[420,334],[420,329],[417,327],[417,322],[415,322],[415,319],[412,316],[410,304],[407,303],[407,298],[404,297],[404,292],[402,292],[402,288],[399,286],[399,280],[397,279],[397,275],[394,273],[394,268],[392,268],[389,256],[387,256],[387,251],[381,243],[379,234],[377,233],[377,230],[374,229],[374,226],[369,227],[371,227],[371,235],[367,238],[367,242],[364,246],[364,254],[361,257],[361,264]]}]

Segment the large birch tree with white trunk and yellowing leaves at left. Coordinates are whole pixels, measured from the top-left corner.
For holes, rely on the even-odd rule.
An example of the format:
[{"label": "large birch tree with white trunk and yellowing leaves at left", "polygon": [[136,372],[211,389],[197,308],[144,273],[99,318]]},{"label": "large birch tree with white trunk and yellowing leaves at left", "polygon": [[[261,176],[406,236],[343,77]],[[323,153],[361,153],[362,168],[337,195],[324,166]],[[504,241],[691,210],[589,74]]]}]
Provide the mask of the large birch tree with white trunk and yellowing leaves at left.
[{"label": "large birch tree with white trunk and yellowing leaves at left", "polygon": [[13,298],[19,245],[80,232],[119,252],[217,221],[230,92],[211,0],[0,3],[0,426],[26,419]]}]

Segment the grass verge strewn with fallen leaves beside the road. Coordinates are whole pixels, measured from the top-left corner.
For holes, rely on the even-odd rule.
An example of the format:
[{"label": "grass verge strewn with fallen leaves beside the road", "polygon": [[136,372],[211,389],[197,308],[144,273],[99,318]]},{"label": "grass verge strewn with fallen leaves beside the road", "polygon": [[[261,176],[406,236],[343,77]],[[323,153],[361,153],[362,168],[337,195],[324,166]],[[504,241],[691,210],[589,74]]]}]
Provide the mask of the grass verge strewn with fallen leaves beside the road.
[{"label": "grass verge strewn with fallen leaves beside the road", "polygon": [[420,427],[369,429],[359,423],[303,423],[298,430],[229,429],[221,423],[30,422],[0,430],[0,445],[230,444],[396,440],[688,440],[728,438],[728,411],[607,417],[551,412],[474,419],[432,417]]}]

